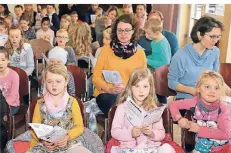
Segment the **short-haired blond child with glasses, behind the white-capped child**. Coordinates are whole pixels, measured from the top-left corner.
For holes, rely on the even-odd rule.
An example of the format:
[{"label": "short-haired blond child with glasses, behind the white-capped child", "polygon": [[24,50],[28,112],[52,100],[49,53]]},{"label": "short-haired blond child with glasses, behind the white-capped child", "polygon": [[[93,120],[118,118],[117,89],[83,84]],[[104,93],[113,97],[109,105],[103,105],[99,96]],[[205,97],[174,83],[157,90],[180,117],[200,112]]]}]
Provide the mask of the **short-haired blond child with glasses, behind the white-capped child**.
[{"label": "short-haired blond child with glasses, behind the white-capped child", "polygon": [[56,42],[58,43],[58,47],[63,48],[67,51],[67,65],[76,65],[75,52],[71,46],[67,46],[67,42],[69,41],[68,32],[65,29],[60,29],[56,33]]}]

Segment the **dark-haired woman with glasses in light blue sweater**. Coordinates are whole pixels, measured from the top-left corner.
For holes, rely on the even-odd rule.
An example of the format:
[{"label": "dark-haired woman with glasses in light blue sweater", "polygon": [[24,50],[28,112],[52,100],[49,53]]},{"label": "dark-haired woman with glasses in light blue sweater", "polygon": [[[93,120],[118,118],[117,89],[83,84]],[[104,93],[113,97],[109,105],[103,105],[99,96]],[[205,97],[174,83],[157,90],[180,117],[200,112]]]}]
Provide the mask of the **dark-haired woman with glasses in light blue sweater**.
[{"label": "dark-haired woman with glasses in light blue sweater", "polygon": [[[168,86],[177,92],[176,100],[192,98],[196,94],[196,80],[204,70],[219,70],[220,50],[215,44],[221,38],[223,24],[215,18],[200,18],[191,31],[192,42],[176,52],[171,60]],[[230,88],[226,85],[226,93]],[[185,111],[181,111],[184,115]],[[186,141],[187,143],[187,141]],[[186,144],[186,151],[194,146]]]}]

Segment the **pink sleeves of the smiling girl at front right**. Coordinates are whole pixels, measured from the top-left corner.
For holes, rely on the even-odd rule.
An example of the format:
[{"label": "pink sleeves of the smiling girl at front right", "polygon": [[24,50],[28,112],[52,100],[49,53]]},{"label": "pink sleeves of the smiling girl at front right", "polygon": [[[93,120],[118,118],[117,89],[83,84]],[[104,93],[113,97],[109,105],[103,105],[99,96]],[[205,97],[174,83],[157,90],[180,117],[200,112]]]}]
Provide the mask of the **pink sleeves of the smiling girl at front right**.
[{"label": "pink sleeves of the smiling girl at front right", "polygon": [[[173,120],[178,120],[180,115],[179,109],[189,110],[191,107],[195,107],[198,102],[197,97],[192,99],[184,99],[173,101],[170,103],[170,112]],[[209,128],[201,126],[198,132],[198,137],[217,139],[217,140],[229,140],[230,139],[230,109],[227,103],[220,103],[220,114],[217,119],[217,128]]]}]

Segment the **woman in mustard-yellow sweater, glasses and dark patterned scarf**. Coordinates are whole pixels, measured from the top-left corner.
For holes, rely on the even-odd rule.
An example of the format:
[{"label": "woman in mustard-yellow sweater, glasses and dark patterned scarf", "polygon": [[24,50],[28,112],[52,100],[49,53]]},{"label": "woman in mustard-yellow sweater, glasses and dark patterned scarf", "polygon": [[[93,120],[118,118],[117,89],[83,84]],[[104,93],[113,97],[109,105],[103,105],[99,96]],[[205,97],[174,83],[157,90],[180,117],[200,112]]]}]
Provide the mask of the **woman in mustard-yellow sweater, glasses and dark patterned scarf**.
[{"label": "woman in mustard-yellow sweater, glasses and dark patterned scarf", "polygon": [[[144,51],[137,46],[135,23],[131,15],[120,16],[112,25],[111,43],[102,47],[94,73],[96,102],[107,116],[117,96],[122,93],[130,74],[136,68],[147,67]],[[122,82],[106,82],[102,70],[119,72]]]}]

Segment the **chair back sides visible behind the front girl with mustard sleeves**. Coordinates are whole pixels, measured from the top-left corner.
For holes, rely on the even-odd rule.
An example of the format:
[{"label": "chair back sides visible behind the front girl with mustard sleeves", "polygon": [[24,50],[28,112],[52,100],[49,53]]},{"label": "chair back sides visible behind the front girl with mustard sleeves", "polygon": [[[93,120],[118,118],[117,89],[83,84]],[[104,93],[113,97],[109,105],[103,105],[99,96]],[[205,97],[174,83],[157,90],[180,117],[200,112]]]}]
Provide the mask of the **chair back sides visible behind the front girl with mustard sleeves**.
[{"label": "chair back sides visible behind the front girl with mustard sleeves", "polygon": [[[26,115],[27,129],[29,129],[28,128],[28,123],[32,123],[34,109],[35,109],[35,106],[37,104],[37,100],[40,99],[40,98],[41,97],[38,97],[37,99],[32,100],[32,102],[31,102],[31,104],[30,104],[30,106],[28,108],[27,115]],[[85,106],[84,106],[83,102],[78,97],[75,97],[75,98],[78,101],[78,104],[79,104],[79,107],[80,107],[81,115],[83,117],[84,127],[87,127],[87,117],[86,117]]]}]

